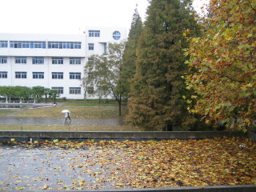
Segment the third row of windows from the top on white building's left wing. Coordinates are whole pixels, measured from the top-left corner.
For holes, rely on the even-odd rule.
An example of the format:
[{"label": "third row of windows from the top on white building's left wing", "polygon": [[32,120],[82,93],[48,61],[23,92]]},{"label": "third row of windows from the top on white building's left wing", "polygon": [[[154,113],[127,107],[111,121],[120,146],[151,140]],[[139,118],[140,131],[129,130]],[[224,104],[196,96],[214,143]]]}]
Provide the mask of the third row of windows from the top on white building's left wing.
[{"label": "third row of windows from the top on white building's left wing", "polygon": [[[52,79],[63,79],[64,73],[63,72],[51,72]],[[0,71],[0,78],[8,78],[7,71]],[[26,71],[15,71],[15,78],[27,78]],[[32,72],[32,78],[36,79],[44,79],[45,73],[44,72]],[[80,72],[70,72],[70,79],[81,79]]]}]

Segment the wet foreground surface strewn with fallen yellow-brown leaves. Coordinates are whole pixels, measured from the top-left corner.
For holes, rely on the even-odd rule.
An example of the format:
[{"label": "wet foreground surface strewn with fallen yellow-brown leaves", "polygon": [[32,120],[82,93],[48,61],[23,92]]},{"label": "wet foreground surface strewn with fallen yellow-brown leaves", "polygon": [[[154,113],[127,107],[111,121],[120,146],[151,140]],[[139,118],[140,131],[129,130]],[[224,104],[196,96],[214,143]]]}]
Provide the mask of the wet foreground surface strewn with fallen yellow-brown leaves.
[{"label": "wet foreground surface strewn with fallen yellow-brown leaves", "polygon": [[[239,145],[246,146],[240,149]],[[256,184],[248,138],[0,143],[0,190]]]}]

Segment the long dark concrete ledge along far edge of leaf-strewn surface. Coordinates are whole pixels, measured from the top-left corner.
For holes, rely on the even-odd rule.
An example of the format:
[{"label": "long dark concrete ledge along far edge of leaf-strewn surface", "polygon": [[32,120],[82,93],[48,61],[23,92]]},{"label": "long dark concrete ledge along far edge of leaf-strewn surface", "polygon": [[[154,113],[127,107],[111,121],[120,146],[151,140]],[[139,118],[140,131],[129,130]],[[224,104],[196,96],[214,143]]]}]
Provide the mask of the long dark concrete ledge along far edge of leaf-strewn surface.
[{"label": "long dark concrete ledge along far edge of leaf-strewn surface", "polygon": [[[189,139],[248,136],[242,131],[145,131],[145,132],[78,132],[1,130],[0,138],[99,138],[99,139]],[[250,134],[255,138],[255,134]]]}]

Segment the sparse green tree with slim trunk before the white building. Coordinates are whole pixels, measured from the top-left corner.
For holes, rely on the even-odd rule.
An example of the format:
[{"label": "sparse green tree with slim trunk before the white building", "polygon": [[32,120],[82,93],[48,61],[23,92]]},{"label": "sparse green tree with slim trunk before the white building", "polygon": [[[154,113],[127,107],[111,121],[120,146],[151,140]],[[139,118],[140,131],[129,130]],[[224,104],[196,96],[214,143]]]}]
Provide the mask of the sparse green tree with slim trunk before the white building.
[{"label": "sparse green tree with slim trunk before the white building", "polygon": [[109,43],[107,54],[92,55],[85,66],[89,75],[83,81],[85,87],[94,87],[90,94],[98,94],[99,97],[112,94],[118,101],[120,115],[122,98],[126,93],[120,81],[124,48],[125,42]]}]

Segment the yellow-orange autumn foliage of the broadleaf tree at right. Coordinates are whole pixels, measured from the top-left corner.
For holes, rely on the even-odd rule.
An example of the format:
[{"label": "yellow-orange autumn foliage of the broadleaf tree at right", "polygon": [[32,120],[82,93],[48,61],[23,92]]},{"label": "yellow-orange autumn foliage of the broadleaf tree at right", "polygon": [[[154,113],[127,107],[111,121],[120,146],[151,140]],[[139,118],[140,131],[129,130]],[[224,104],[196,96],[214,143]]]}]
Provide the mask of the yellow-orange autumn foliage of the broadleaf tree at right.
[{"label": "yellow-orange autumn foliage of the broadleaf tree at right", "polygon": [[252,127],[256,116],[256,2],[211,0],[202,38],[192,38],[189,110],[229,129]]}]

